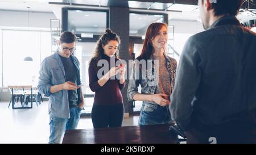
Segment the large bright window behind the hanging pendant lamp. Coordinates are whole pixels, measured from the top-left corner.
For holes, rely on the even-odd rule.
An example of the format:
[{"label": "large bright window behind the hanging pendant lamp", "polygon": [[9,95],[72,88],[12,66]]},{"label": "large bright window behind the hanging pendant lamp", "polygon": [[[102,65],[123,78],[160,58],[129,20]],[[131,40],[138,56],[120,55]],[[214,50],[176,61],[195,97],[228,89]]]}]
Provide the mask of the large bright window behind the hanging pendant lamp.
[{"label": "large bright window behind the hanging pendant lamp", "polygon": [[3,86],[36,85],[40,62],[51,55],[50,33],[3,30],[2,38]]}]

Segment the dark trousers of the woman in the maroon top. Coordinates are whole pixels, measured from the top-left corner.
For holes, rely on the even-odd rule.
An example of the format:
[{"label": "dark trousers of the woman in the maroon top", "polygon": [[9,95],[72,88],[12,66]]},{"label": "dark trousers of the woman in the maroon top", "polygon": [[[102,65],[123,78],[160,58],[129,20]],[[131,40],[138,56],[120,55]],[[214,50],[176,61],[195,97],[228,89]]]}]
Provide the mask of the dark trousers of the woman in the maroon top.
[{"label": "dark trousers of the woman in the maroon top", "polygon": [[123,122],[123,112],[123,104],[115,104],[111,106],[93,105],[93,127],[121,127]]}]

